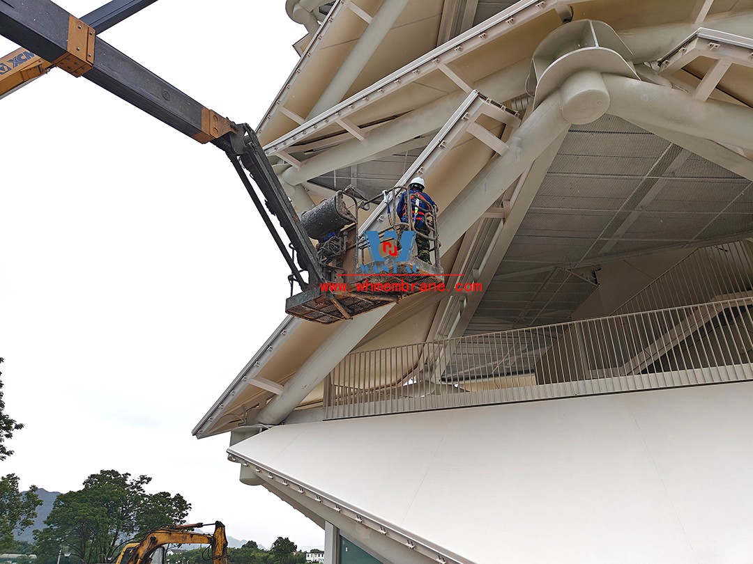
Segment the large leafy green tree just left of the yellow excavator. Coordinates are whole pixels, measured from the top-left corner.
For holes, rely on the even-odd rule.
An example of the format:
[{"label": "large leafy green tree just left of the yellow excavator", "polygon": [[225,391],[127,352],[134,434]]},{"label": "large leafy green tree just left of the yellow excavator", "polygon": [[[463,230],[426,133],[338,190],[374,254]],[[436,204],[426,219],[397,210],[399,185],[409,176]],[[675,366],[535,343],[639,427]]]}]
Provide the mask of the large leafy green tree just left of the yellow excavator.
[{"label": "large leafy green tree just left of the yellow excavator", "polygon": [[191,505],[179,493],[146,493],[151,478],[102,470],[81,490],[57,496],[47,525],[35,531],[39,556],[49,559],[68,547],[81,564],[111,562],[120,547],[151,529],[183,523]]}]

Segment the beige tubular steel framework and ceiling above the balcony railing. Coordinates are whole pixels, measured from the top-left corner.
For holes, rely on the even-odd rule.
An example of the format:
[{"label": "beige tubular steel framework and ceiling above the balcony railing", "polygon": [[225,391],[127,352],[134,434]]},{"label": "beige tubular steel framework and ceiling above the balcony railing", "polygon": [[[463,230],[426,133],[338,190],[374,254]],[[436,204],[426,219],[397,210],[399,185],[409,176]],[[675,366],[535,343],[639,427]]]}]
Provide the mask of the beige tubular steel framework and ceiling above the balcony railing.
[{"label": "beige tubular steel framework and ceiling above the balcony railing", "polygon": [[358,347],[572,320],[609,264],[753,234],[753,0],[404,4],[336,2],[260,138],[299,212],[422,174],[444,270],[483,293],[284,320],[199,437],[318,405]]}]

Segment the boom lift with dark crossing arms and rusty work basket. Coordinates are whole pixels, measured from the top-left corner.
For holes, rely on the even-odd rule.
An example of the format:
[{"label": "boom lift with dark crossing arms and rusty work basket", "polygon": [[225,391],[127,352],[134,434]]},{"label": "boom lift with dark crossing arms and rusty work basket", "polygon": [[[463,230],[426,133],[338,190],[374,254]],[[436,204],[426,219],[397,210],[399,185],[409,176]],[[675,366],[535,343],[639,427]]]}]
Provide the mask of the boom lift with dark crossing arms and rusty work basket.
[{"label": "boom lift with dark crossing arms and rusty work basket", "polygon": [[[196,141],[224,150],[291,268],[291,285],[300,286],[301,293],[288,299],[288,314],[332,323],[419,292],[421,284],[441,284],[441,268],[413,253],[417,237],[429,238],[434,265],[439,264],[436,227],[425,235],[414,229],[411,219],[401,222],[395,210],[390,210],[389,202],[395,202],[404,188],[385,194],[386,229],[380,231],[359,233],[358,210],[366,210],[373,201],[352,186],[300,219],[251,126],[233,123],[205,108],[99,38],[99,32],[152,2],[112,0],[81,20],[50,0],[0,2],[0,33],[26,49],[16,56],[17,70],[0,80],[0,97],[57,66],[91,80]],[[352,200],[352,211],[346,197]],[[288,236],[290,248],[270,214]],[[319,241],[316,247],[312,238]]]}]

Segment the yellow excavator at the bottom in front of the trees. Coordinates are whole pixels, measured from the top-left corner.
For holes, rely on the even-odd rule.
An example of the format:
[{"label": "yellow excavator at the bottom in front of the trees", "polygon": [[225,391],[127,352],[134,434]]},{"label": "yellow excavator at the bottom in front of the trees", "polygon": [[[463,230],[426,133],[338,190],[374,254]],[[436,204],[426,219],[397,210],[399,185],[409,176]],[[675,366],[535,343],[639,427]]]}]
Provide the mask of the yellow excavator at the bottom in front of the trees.
[{"label": "yellow excavator at the bottom in front of the trees", "polygon": [[212,548],[212,564],[228,564],[225,526],[215,521],[215,532],[212,535],[192,530],[203,526],[204,523],[192,523],[154,529],[142,541],[126,544],[114,564],[151,564],[154,553],[167,544],[209,544]]}]

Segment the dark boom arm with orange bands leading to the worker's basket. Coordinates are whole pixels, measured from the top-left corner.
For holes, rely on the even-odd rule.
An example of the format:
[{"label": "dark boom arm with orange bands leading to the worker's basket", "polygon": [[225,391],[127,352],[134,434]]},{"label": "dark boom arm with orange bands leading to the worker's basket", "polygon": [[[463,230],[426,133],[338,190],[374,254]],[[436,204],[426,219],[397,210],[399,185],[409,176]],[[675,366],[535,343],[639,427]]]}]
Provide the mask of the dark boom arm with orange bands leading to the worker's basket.
[{"label": "dark boom arm with orange bands leading to the worker's basket", "polygon": [[[103,41],[96,29],[50,0],[0,0],[0,34],[74,76],[84,76],[200,143],[212,142],[224,150],[291,267],[292,277],[303,290],[325,279],[316,250],[250,126],[236,125],[205,108]],[[279,238],[243,168],[251,173],[269,211],[290,239],[293,252]],[[308,280],[303,279],[301,270],[309,272]]]}]

